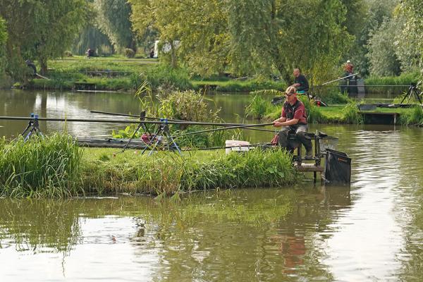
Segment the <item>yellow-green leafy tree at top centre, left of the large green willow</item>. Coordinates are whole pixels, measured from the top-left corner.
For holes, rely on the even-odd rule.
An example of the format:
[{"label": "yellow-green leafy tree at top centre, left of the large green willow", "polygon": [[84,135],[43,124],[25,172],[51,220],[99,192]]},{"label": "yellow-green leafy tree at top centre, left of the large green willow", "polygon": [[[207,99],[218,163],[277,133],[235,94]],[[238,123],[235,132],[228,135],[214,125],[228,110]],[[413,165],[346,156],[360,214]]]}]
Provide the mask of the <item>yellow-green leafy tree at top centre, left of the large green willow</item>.
[{"label": "yellow-green leafy tree at top centre, left of the large green willow", "polygon": [[[171,46],[171,66],[178,56],[193,73],[221,72],[228,61],[226,0],[129,0],[133,27],[139,35],[157,30]],[[178,50],[174,46],[180,41]]]}]

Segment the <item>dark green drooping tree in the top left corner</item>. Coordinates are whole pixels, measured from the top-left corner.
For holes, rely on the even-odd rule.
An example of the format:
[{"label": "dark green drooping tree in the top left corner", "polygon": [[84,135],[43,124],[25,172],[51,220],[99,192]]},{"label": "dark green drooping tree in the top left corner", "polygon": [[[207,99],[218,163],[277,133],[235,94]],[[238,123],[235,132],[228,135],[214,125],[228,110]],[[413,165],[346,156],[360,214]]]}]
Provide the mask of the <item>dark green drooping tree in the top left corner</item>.
[{"label": "dark green drooping tree in the top left corner", "polygon": [[47,71],[47,60],[62,56],[90,11],[85,0],[0,0],[0,7],[9,34],[8,71],[14,78],[22,77],[23,57],[37,59],[42,73]]}]

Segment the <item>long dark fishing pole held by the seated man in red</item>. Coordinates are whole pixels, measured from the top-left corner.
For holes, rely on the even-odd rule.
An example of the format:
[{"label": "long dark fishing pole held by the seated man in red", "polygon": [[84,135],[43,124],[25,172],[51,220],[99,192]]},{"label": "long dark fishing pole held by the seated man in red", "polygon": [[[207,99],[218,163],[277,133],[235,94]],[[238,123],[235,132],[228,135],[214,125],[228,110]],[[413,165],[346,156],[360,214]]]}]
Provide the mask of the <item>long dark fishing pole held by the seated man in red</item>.
[{"label": "long dark fishing pole held by the seated man in red", "polygon": [[[10,121],[30,121],[34,118],[25,116],[0,116],[0,120]],[[140,123],[136,120],[116,120],[116,119],[88,119],[88,118],[37,118],[39,121],[65,121],[65,122],[82,122],[82,123]],[[207,123],[200,121],[168,121],[166,118],[161,118],[161,121],[142,121],[142,123],[148,124],[185,124],[185,125],[216,125],[216,126],[243,126],[249,127],[270,125],[267,123],[263,124],[245,124],[245,123]]]}]

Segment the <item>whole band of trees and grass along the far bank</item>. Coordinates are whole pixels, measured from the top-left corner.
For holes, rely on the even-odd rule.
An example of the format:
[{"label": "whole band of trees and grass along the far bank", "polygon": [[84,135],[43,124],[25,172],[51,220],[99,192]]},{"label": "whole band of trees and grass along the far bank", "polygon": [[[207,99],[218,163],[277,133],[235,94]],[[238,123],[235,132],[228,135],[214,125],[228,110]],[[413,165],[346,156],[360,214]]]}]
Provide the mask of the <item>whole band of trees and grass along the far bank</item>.
[{"label": "whole band of trees and grass along the far bank", "polygon": [[[419,6],[412,0],[0,4],[0,36],[6,40],[2,65],[24,87],[95,85],[95,90],[128,91],[147,80],[152,87],[173,85],[180,90],[283,89],[293,82],[293,67],[302,68],[310,85],[320,85],[338,78],[347,59],[362,77],[370,75],[369,85],[375,78],[400,74],[403,78],[395,83],[408,85],[417,79],[421,65],[422,24],[415,13]],[[291,6],[297,8],[293,11]],[[284,20],[286,14],[293,20]],[[37,20],[39,15],[42,20]],[[25,26],[18,20],[22,17],[28,19]],[[87,49],[93,51],[92,59],[64,66]],[[116,55],[121,56],[114,57],[116,65],[103,59]],[[164,66],[155,65],[157,59],[141,59],[152,56],[159,56]],[[61,57],[69,60],[54,61]],[[39,73],[51,80],[32,80],[26,59],[35,61]]]}]

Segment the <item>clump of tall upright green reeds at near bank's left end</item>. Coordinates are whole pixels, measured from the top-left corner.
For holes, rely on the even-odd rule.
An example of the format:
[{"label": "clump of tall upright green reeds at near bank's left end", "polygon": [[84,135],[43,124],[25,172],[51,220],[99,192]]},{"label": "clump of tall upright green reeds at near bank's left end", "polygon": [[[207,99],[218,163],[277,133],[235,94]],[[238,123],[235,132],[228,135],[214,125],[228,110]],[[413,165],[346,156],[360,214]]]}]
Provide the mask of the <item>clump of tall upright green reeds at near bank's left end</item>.
[{"label": "clump of tall upright green reeds at near bank's left end", "polygon": [[70,197],[79,188],[82,149],[70,136],[0,140],[0,194],[10,197]]}]

